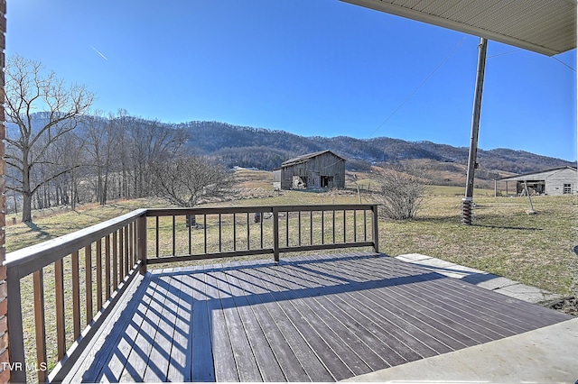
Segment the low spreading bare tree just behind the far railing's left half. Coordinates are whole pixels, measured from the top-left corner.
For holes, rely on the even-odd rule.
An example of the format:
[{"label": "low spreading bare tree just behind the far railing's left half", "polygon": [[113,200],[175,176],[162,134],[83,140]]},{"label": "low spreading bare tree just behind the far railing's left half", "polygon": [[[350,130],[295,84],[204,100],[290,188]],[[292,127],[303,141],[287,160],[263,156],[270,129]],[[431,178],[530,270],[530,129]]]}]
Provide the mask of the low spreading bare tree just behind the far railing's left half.
[{"label": "low spreading bare tree just behind the far railing's left half", "polygon": [[176,206],[193,207],[201,200],[228,197],[235,183],[227,169],[196,156],[157,162],[151,170],[154,194]]}]

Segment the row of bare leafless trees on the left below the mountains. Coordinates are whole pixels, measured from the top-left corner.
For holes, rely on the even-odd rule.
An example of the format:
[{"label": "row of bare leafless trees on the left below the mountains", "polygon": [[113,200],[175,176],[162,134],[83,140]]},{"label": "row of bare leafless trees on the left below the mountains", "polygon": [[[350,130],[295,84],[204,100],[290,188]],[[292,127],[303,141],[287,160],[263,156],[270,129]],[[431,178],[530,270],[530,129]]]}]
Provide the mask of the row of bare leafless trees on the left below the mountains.
[{"label": "row of bare leafless trees on the left below the mountains", "polygon": [[[6,60],[6,189],[12,211],[32,223],[32,209],[110,199],[158,196],[172,201],[168,172],[194,166],[207,185],[184,186],[182,206],[232,187],[226,169],[184,151],[189,135],[176,125],[116,114],[89,113],[94,94],[67,86],[38,61]],[[43,110],[43,112],[36,112]],[[178,167],[176,167],[178,165]],[[209,176],[208,176],[208,175]],[[10,203],[10,201],[9,201]]]}]

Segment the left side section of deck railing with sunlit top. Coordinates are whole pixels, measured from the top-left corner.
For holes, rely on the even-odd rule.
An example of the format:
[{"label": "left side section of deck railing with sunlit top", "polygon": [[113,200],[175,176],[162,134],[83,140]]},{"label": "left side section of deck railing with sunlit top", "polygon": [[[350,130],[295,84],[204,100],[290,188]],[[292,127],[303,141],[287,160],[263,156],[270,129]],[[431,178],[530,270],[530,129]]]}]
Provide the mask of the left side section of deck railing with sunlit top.
[{"label": "left side section of deck railing with sunlit top", "polygon": [[[145,215],[146,210],[139,209],[6,255],[13,382],[26,382],[27,374],[36,374],[44,382],[49,370],[64,371],[62,367],[68,368],[79,357],[143,264],[137,254],[144,253],[138,235]],[[23,300],[23,288],[30,291],[31,285],[33,307]],[[30,294],[26,298],[30,300]],[[27,331],[33,327],[34,334],[26,336],[35,338],[35,361],[30,359],[33,352],[25,352],[23,325]],[[47,357],[47,325],[50,345],[57,346],[55,367]]]}]

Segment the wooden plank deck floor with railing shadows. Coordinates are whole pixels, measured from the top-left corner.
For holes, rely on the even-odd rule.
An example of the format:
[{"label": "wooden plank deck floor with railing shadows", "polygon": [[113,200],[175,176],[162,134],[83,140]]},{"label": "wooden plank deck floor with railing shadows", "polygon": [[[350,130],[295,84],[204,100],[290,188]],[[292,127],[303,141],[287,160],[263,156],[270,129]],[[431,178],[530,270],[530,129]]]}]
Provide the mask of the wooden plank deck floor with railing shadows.
[{"label": "wooden plank deck floor with railing shadows", "polygon": [[571,318],[366,253],[154,270],[132,293],[67,380],[335,381]]}]

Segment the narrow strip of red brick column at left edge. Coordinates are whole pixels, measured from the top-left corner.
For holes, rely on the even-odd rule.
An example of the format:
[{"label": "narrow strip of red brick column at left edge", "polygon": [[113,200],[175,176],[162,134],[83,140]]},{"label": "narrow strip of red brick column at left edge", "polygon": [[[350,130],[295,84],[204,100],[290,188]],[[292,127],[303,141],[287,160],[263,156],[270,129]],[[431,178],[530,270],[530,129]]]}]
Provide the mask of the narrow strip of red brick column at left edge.
[{"label": "narrow strip of red brick column at left edge", "polygon": [[5,168],[5,47],[6,47],[6,1],[0,0],[0,383],[10,381],[10,350],[8,347],[8,297],[6,285],[6,178]]}]

